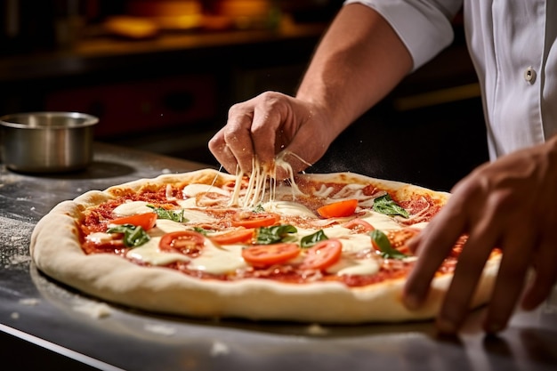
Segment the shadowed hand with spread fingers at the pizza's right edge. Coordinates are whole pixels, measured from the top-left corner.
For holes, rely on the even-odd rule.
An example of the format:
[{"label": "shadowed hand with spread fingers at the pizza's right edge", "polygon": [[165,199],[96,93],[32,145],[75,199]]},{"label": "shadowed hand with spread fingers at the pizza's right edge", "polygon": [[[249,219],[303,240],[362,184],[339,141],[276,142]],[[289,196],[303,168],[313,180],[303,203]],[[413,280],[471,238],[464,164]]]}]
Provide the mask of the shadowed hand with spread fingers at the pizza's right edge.
[{"label": "shadowed hand with spread fingers at the pizza's right edge", "polygon": [[[484,329],[503,330],[516,303],[532,310],[557,278],[557,137],[482,165],[456,184],[453,195],[424,231],[409,243],[418,254],[405,286],[405,303],[424,302],[435,271],[463,233],[469,238],[456,264],[437,325],[455,333],[470,310],[472,294],[494,247],[503,251]],[[535,272],[527,285],[527,273]]]}]

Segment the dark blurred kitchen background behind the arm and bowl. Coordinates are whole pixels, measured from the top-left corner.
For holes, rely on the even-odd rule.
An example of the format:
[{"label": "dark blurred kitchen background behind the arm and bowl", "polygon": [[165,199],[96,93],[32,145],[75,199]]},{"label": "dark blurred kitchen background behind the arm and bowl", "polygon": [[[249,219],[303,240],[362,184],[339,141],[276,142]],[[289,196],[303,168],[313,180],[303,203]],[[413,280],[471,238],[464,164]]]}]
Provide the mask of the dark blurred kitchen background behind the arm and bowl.
[{"label": "dark blurred kitchen background behind the arm and bowl", "polygon": [[[216,165],[206,143],[230,105],[266,90],[294,93],[342,3],[0,0],[0,115],[85,112],[100,117],[98,141]],[[448,189],[487,159],[460,16],[453,24],[448,50],[352,125],[313,170]]]}]

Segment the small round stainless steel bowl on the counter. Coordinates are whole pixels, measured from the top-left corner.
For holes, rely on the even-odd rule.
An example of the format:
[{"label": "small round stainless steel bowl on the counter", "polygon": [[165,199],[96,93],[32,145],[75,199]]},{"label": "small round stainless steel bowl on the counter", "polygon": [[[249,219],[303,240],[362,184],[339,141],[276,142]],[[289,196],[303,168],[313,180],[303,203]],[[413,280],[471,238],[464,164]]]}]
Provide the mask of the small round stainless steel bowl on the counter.
[{"label": "small round stainless steel bowl on the counter", "polygon": [[78,112],[29,112],[0,117],[2,161],[24,173],[61,173],[90,165],[97,117]]}]

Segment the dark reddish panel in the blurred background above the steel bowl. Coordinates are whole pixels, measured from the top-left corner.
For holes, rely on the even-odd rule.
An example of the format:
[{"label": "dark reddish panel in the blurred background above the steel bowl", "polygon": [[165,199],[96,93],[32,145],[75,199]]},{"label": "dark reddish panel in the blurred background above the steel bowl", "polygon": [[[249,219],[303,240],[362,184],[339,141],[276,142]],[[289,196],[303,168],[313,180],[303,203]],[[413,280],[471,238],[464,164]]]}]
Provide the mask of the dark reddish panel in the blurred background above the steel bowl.
[{"label": "dark reddish panel in the blurred background above the steel bowl", "polygon": [[45,109],[95,115],[95,136],[106,138],[214,118],[215,92],[210,75],[172,77],[60,90],[48,95]]}]

